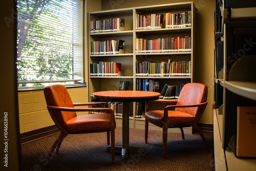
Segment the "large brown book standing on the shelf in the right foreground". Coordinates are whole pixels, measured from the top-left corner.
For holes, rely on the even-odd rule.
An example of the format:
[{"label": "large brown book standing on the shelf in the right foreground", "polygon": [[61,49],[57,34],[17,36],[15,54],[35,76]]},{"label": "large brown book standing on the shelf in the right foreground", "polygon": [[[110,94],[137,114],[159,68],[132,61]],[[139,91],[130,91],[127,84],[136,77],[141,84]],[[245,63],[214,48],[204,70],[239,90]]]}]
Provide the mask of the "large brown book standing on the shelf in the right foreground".
[{"label": "large brown book standing on the shelf in the right foreground", "polygon": [[256,106],[237,107],[237,157],[256,157]]}]

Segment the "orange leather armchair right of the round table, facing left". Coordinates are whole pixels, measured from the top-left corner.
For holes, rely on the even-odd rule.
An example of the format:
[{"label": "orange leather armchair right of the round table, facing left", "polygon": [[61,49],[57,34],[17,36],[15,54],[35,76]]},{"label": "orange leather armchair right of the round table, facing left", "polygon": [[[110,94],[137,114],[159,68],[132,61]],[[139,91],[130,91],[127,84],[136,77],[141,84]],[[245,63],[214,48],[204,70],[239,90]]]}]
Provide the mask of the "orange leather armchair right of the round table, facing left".
[{"label": "orange leather armchair right of the round table, facing left", "polygon": [[[183,127],[192,126],[202,137],[207,151],[208,143],[203,132],[197,125],[199,119],[204,113],[207,105],[208,89],[202,83],[186,83],[182,88],[177,103],[175,105],[166,105],[164,110],[147,111],[145,113],[145,143],[148,136],[148,122],[163,128],[163,158],[166,158],[167,129],[178,127],[181,129],[182,139],[184,139]],[[150,102],[164,102],[164,100],[148,101],[146,109]],[[165,101],[165,103],[168,101]]]}]

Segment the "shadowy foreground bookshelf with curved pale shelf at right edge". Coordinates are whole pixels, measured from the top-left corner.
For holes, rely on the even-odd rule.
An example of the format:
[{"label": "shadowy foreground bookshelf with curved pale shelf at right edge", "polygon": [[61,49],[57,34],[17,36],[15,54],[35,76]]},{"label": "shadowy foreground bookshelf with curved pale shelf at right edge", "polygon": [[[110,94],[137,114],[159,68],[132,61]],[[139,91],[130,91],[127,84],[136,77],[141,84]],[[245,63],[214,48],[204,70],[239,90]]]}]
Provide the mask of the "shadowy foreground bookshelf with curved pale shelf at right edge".
[{"label": "shadowy foreground bookshelf with curved pale shelf at right edge", "polygon": [[[247,2],[241,8],[232,8],[230,2],[222,4],[220,1],[218,7],[222,15],[224,68],[219,74],[220,79],[216,79],[223,89],[223,105],[217,107],[214,104],[213,109],[215,167],[216,170],[254,170],[255,157],[237,157],[237,133],[241,121],[238,119],[238,106],[256,106],[256,48],[250,46],[250,42],[256,41],[256,15],[252,12],[256,4]],[[248,133],[250,131],[247,130]],[[250,144],[247,143],[248,147]]]}]

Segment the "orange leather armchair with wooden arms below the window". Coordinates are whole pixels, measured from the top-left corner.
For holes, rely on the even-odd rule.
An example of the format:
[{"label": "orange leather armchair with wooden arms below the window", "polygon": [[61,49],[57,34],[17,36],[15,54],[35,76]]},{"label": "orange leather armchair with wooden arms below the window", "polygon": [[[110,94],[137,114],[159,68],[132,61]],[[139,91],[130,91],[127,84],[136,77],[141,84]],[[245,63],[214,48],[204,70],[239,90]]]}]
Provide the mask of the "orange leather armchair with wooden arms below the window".
[{"label": "orange leather armchair with wooden arms below the window", "polygon": [[[56,148],[58,154],[61,142],[68,134],[86,134],[86,133],[107,133],[107,145],[110,145],[111,136],[111,154],[112,163],[115,162],[115,128],[116,121],[114,111],[107,108],[92,108],[93,105],[106,104],[104,102],[84,102],[73,103],[68,90],[62,85],[52,85],[44,88],[48,111],[60,130],[60,135],[55,140],[49,152],[48,158],[52,156]],[[91,106],[91,108],[74,108],[74,106]],[[76,112],[81,111],[105,111],[105,113],[86,114],[77,116]],[[47,163],[48,164],[48,163]]]}]

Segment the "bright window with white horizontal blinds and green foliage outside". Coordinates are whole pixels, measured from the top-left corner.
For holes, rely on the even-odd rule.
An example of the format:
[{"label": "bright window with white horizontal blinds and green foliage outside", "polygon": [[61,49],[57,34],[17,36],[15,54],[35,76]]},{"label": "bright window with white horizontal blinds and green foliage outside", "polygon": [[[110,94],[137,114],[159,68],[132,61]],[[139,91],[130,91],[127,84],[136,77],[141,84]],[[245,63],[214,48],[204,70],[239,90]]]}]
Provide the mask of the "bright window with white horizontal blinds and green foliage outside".
[{"label": "bright window with white horizontal blinds and green foliage outside", "polygon": [[84,83],[82,0],[16,0],[18,88]]}]

